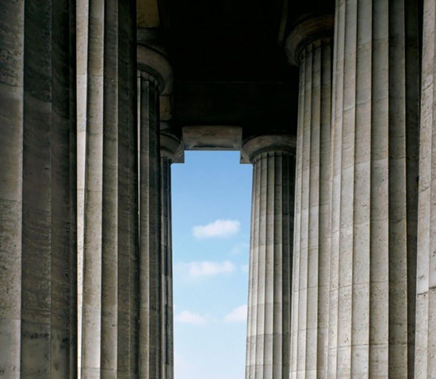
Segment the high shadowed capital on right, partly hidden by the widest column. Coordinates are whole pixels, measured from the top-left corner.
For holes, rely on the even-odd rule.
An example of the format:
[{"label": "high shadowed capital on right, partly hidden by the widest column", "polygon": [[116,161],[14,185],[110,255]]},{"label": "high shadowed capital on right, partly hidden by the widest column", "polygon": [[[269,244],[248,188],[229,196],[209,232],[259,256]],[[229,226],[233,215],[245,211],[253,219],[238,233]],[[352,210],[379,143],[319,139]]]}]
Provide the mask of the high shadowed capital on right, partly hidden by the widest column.
[{"label": "high shadowed capital on right, partly hidden by the widest column", "polygon": [[331,14],[312,15],[297,23],[285,43],[289,63],[299,66],[304,48],[316,40],[332,38],[333,31],[334,17]]}]

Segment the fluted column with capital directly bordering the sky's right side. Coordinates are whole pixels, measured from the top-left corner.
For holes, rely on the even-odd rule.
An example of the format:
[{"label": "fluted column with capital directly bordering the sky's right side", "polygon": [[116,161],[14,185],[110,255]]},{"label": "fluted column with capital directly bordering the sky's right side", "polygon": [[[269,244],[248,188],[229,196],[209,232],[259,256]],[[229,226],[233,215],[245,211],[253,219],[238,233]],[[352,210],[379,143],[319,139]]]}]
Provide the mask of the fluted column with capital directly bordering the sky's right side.
[{"label": "fluted column with capital directly bordering the sky's right side", "polygon": [[295,139],[254,137],[242,154],[254,166],[245,377],[287,379]]}]

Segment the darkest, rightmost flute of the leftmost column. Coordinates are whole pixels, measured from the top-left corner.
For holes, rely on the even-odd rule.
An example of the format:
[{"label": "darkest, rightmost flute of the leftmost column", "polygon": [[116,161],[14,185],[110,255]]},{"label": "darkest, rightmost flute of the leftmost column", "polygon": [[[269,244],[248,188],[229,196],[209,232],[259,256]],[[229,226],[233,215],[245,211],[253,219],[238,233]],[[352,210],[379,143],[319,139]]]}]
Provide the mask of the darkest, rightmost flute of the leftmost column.
[{"label": "darkest, rightmost flute of the leftmost column", "polygon": [[76,378],[77,367],[74,10],[58,1],[51,15],[51,378]]}]

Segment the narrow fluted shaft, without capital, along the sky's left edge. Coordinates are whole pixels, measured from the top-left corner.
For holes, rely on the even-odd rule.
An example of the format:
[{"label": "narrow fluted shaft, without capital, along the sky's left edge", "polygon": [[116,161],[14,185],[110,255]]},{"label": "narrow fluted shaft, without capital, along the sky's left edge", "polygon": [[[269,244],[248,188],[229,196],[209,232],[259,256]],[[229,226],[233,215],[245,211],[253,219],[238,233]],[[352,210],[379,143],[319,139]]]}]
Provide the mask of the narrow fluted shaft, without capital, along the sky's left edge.
[{"label": "narrow fluted shaft, without capital, along the sky's left edge", "polygon": [[173,379],[173,269],[171,227],[171,159],[161,153],[162,377]]}]

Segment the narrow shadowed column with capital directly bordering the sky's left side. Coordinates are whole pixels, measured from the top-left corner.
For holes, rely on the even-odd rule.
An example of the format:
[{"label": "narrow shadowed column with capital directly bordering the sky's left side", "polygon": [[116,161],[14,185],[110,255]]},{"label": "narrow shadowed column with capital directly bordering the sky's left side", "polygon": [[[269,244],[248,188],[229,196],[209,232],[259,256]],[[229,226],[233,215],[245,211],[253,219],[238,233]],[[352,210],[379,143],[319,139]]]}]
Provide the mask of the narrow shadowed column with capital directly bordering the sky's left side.
[{"label": "narrow shadowed column with capital directly bordering the sky's left side", "polygon": [[160,134],[162,378],[174,378],[173,242],[171,233],[171,164],[183,161],[183,146],[173,134]]}]

